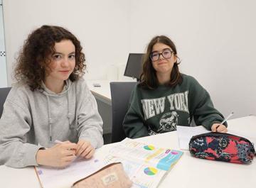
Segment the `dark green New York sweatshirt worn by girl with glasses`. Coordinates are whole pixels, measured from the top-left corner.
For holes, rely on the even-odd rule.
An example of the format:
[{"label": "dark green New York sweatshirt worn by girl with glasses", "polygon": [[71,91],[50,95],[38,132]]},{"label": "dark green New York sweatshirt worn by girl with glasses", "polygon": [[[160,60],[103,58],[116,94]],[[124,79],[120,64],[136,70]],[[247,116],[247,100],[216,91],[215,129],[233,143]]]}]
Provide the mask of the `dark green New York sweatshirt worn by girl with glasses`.
[{"label": "dark green New York sweatshirt worn by girl with glasses", "polygon": [[[223,121],[210,95],[196,79],[182,74],[183,82],[176,87],[160,85],[157,89],[134,88],[129,109],[124,117],[124,132],[129,138],[176,131],[176,126],[204,126]],[[225,124],[227,126],[227,124]]]}]

